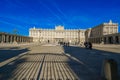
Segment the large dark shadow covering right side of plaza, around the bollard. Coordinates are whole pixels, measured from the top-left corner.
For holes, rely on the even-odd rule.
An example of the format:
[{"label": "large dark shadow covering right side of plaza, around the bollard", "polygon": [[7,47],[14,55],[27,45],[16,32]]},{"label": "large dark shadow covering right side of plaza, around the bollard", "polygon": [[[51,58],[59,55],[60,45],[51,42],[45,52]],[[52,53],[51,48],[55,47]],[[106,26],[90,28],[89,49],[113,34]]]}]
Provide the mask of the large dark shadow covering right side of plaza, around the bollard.
[{"label": "large dark shadow covering right side of plaza, around the bollard", "polygon": [[102,65],[105,59],[117,61],[120,78],[120,54],[75,46],[63,46],[63,49],[65,54],[69,54],[81,62],[79,67],[78,65],[75,66],[75,64],[69,64],[70,68],[77,73],[81,80],[101,80]]}]

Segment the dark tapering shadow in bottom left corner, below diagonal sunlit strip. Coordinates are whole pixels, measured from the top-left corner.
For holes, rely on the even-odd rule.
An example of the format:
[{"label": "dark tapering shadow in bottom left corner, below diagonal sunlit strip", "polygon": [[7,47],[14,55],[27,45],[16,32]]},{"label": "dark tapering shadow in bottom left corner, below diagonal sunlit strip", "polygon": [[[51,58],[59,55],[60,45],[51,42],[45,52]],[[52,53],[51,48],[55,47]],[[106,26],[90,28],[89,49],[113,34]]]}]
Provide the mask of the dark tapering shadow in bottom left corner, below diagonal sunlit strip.
[{"label": "dark tapering shadow in bottom left corner, below diagonal sunlit strip", "polygon": [[16,61],[13,61],[3,67],[0,68],[0,80],[17,80],[16,79],[12,79],[12,77],[14,77],[14,74],[16,71],[17,72],[17,69],[18,69],[18,66],[22,63],[24,63],[27,59],[26,58],[21,58]]}]

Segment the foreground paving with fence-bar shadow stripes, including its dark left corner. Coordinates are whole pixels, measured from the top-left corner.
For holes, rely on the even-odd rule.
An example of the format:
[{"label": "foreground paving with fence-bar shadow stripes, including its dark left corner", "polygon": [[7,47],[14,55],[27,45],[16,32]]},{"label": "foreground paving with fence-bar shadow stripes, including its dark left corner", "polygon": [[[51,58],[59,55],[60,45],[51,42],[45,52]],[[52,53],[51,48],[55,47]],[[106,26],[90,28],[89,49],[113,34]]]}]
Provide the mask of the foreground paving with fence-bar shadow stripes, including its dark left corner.
[{"label": "foreground paving with fence-bar shadow stripes, including its dark left corner", "polygon": [[73,63],[78,65],[62,53],[26,54],[0,68],[0,80],[79,80]]}]

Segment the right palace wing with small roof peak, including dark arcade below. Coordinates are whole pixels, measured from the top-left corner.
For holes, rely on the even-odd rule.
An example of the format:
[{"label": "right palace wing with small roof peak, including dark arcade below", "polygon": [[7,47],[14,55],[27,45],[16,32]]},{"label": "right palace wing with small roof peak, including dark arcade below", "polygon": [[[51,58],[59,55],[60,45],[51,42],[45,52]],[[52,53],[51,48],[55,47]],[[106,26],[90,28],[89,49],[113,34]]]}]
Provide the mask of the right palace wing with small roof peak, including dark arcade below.
[{"label": "right palace wing with small roof peak, including dark arcade below", "polygon": [[118,23],[103,23],[85,31],[86,41],[101,44],[120,44]]}]

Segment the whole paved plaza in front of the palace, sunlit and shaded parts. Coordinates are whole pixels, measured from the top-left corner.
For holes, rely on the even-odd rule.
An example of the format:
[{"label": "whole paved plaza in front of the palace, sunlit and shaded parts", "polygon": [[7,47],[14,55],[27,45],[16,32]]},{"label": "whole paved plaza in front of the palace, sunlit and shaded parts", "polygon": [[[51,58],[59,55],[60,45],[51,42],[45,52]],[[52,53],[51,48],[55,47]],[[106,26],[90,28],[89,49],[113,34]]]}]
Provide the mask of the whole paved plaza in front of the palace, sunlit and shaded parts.
[{"label": "whole paved plaza in front of the palace, sunlit and shaded parts", "polygon": [[2,45],[0,80],[101,80],[105,59],[117,61],[120,76],[118,46]]}]

